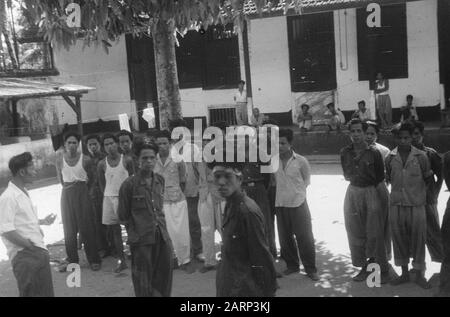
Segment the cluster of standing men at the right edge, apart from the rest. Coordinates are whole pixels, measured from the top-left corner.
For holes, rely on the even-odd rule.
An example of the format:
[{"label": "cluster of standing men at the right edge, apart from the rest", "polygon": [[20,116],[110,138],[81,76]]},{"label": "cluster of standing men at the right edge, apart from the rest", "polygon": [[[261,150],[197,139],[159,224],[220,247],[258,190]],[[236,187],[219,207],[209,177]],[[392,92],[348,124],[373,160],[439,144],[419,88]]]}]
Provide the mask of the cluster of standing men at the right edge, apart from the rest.
[{"label": "cluster of standing men at the right edge, apart from the rest", "polygon": [[[354,280],[365,281],[370,274],[368,265],[377,263],[382,284],[399,285],[412,279],[429,289],[427,247],[432,261],[443,263],[441,293],[448,294],[449,209],[441,234],[437,201],[447,178],[443,169],[450,167],[446,165],[450,153],[442,160],[426,147],[424,126],[415,120],[405,121],[393,131],[397,147],[392,151],[376,142],[379,128],[375,123],[353,119],[349,128],[352,144],[341,151],[341,163],[350,182],[344,215],[352,262],[361,268]],[[393,276],[390,270],[392,245],[395,265],[402,269],[400,276]]]}]

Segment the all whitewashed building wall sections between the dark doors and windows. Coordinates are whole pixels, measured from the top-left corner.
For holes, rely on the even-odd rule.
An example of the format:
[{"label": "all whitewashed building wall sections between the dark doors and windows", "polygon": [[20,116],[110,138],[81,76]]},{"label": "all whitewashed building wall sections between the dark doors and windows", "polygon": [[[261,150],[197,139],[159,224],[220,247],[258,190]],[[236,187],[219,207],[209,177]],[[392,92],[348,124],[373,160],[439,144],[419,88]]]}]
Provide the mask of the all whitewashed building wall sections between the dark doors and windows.
[{"label": "all whitewashed building wall sections between the dark doors and windows", "polygon": [[[334,99],[344,111],[355,109],[358,100],[364,99],[370,103],[371,97],[369,83],[358,81],[356,10],[348,9],[346,12],[347,27],[344,11],[334,13],[338,82]],[[419,106],[437,105],[440,102],[437,0],[408,3],[407,29],[409,78],[391,80],[392,104],[398,108],[407,94],[413,94]],[[245,79],[242,43],[240,38],[241,76]],[[301,100],[310,98],[303,93],[291,92],[285,16],[251,20],[249,46],[253,104],[261,112],[288,112],[295,109]],[[130,100],[124,38],[110,49],[109,54],[102,47],[83,50],[82,42],[79,42],[70,51],[56,51],[55,63],[61,72],[59,80],[96,87],[83,97],[85,121],[117,120],[120,113],[135,112],[135,105]],[[208,106],[233,104],[234,92],[234,89],[182,89],[183,115],[207,117]],[[59,106],[60,121],[75,123],[72,110],[64,102],[60,102]]]}]

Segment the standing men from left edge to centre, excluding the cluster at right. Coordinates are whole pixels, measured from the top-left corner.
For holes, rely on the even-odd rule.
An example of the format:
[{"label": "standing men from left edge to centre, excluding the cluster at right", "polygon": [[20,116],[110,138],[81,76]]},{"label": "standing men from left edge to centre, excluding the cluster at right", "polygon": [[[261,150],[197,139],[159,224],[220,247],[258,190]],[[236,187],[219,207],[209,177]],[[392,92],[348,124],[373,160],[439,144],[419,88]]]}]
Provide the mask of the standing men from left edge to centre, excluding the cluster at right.
[{"label": "standing men from left edge to centre, excluding the cluster at right", "polygon": [[[225,125],[217,127],[225,132]],[[61,272],[79,263],[82,246],[92,270],[100,270],[102,258],[111,254],[118,259],[115,272],[126,269],[124,225],[137,296],[170,296],[173,268],[191,273],[193,261],[204,262],[202,273],[217,269],[218,296],[273,296],[281,277],[275,270],[276,214],[284,274],[299,272],[301,258],[306,274],[318,280],[306,202],[310,169],[292,149],[291,130],[280,131],[281,163],[272,175],[261,174],[255,162],[198,162],[195,156],[202,153],[195,145],[172,140],[169,131],[157,131],[145,142],[133,143],[126,131],[91,135],[85,141],[89,155],[73,132],[64,135],[64,146],[57,151],[67,253]],[[189,153],[175,153],[174,142],[185,143],[181,151]],[[177,154],[192,160],[176,161]],[[39,225],[52,224],[54,216],[38,221],[25,189],[34,175],[31,154],[14,157],[10,169],[13,181],[0,199],[0,232],[20,295],[52,296],[49,255]],[[33,219],[33,232],[22,230],[17,217]],[[222,236],[220,262],[216,231]]]}]

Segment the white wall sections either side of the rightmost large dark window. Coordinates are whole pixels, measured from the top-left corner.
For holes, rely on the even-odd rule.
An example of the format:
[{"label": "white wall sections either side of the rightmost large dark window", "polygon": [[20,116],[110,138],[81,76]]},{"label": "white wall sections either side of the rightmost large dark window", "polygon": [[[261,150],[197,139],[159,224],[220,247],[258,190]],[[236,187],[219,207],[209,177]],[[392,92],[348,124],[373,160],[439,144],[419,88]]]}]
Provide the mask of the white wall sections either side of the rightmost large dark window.
[{"label": "white wall sections either side of the rightmost large dark window", "polygon": [[[368,81],[358,81],[356,10],[347,11],[348,49],[345,48],[344,10],[335,11],[337,67],[337,103],[341,110],[356,108],[358,100],[369,101]],[[339,15],[341,26],[339,27]],[[390,80],[392,106],[399,108],[406,95],[415,96],[418,106],[435,106],[440,102],[437,1],[415,1],[407,4],[408,75],[406,79]],[[342,46],[340,46],[341,38]],[[341,68],[341,54],[343,68]],[[346,64],[346,51],[348,64]],[[348,69],[345,69],[346,66]]]}]

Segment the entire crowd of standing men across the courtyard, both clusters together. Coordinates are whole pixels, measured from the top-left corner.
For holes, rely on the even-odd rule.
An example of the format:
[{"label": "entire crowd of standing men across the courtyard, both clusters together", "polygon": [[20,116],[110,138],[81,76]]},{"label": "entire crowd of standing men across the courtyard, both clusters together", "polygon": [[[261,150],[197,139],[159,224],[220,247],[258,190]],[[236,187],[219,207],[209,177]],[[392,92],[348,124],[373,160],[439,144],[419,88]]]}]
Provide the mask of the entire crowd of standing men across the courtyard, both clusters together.
[{"label": "entire crowd of standing men across the courtyard, both clusters together", "polygon": [[[181,120],[171,128],[182,126]],[[224,132],[227,127],[215,126]],[[437,152],[423,145],[424,128],[416,121],[395,131],[393,151],[376,143],[376,124],[353,119],[349,129],[352,144],[342,150],[341,160],[350,182],[345,225],[353,265],[361,268],[354,281],[365,281],[367,266],[378,263],[382,283],[406,283],[412,274],[429,288],[426,245],[433,261],[443,263],[441,288],[448,292],[450,216],[448,209],[441,234],[437,196],[444,179],[450,185],[450,154],[442,164]],[[261,173],[262,163],[239,163],[227,155],[223,162],[199,162],[198,148],[190,140],[172,140],[170,131],[154,131],[142,140],[127,131],[91,135],[85,140],[88,155],[80,151],[81,137],[66,133],[56,162],[67,253],[59,270],[79,263],[80,242],[92,270],[100,270],[109,255],[117,258],[115,272],[126,269],[124,225],[136,296],[170,296],[173,269],[193,273],[195,261],[203,263],[202,273],[217,269],[217,296],[274,296],[276,279],[298,273],[300,261],[306,275],[318,281],[307,203],[310,166],[293,149],[293,131],[278,132],[280,164],[272,174]],[[174,142],[183,142],[182,151],[192,159],[174,160]],[[20,295],[53,296],[39,225],[51,225],[55,217],[38,220],[29,198],[26,185],[35,174],[31,154],[13,157],[9,166],[13,178],[0,197],[0,234]],[[275,270],[275,216],[283,274]],[[222,236],[219,261],[216,231]],[[390,270],[391,245],[400,276]]]}]

